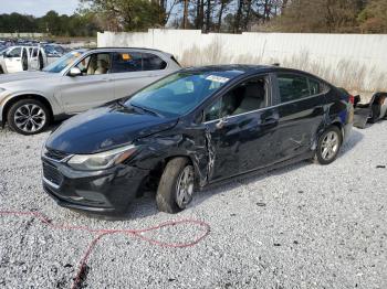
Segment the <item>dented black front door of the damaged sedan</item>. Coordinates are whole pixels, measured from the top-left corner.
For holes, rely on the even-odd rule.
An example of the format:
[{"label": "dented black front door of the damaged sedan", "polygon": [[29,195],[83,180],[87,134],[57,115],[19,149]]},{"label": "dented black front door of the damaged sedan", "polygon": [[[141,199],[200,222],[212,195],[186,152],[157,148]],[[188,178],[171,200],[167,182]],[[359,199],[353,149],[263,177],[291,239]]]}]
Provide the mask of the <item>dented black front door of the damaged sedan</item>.
[{"label": "dented black front door of the damaged sedan", "polygon": [[272,136],[278,118],[276,108],[265,108],[206,124],[212,152],[209,180],[222,180],[274,163]]}]

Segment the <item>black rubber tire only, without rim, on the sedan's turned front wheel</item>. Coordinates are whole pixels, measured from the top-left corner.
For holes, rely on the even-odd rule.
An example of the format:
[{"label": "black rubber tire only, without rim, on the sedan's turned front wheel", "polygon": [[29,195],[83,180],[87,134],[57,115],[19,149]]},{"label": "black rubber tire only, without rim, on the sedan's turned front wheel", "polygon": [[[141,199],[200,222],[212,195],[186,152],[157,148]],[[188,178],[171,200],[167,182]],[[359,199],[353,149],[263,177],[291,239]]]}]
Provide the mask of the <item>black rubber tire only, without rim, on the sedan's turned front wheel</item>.
[{"label": "black rubber tire only, without rim, on the sedan's turned front wheel", "polygon": [[180,206],[177,202],[178,182],[187,167],[194,171],[194,167],[187,158],[175,158],[167,163],[156,194],[156,203],[160,212],[179,213],[191,201],[190,199],[187,204]]}]

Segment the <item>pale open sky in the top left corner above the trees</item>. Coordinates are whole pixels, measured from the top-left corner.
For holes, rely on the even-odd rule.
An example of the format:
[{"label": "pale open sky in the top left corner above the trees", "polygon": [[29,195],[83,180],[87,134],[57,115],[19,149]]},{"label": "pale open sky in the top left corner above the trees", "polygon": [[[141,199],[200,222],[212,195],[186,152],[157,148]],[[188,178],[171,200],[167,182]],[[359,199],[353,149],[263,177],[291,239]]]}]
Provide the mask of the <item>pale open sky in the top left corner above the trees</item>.
[{"label": "pale open sky in the top left corner above the trees", "polygon": [[79,0],[0,0],[0,14],[18,12],[42,17],[50,10],[60,14],[73,14]]}]

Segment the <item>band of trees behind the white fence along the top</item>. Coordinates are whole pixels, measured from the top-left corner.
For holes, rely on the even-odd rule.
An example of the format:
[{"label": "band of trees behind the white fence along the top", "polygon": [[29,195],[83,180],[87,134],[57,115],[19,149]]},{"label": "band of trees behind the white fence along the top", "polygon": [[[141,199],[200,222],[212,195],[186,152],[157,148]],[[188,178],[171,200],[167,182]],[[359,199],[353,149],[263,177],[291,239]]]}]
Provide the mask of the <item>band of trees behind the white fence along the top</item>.
[{"label": "band of trees behind the white fence along the top", "polygon": [[[387,33],[387,0],[80,0],[73,15],[0,14],[0,32],[95,36],[165,25],[205,32]],[[174,9],[172,9],[174,8]],[[174,15],[174,18],[170,18]],[[170,20],[168,22],[168,20]],[[168,22],[168,23],[167,23]]]}]

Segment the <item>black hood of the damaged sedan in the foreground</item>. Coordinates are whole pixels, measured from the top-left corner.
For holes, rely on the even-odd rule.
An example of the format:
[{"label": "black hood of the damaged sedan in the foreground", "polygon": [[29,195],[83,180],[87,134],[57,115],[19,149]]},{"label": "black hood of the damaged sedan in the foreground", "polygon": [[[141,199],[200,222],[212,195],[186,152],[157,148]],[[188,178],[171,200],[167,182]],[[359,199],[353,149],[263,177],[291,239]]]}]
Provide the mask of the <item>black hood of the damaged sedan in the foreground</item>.
[{"label": "black hood of the damaged sedan in the foreground", "polygon": [[113,104],[64,121],[45,146],[65,153],[96,153],[170,129],[177,121],[178,118],[159,117]]}]

